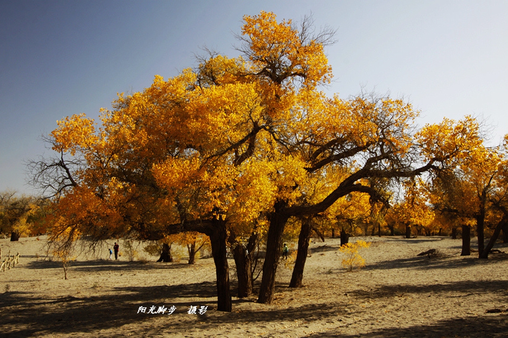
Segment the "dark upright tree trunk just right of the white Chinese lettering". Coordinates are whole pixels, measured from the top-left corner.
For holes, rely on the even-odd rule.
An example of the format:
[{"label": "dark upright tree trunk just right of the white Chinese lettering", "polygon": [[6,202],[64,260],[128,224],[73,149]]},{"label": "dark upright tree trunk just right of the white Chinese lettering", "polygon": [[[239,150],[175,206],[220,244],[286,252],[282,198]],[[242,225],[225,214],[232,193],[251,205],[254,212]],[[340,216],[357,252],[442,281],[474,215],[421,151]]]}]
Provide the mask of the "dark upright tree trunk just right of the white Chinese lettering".
[{"label": "dark upright tree trunk just right of the white Chinese lettering", "polygon": [[221,219],[214,220],[213,228],[213,232],[209,233],[208,236],[212,246],[212,256],[217,278],[217,310],[231,312],[232,302],[229,289],[226,222]]}]

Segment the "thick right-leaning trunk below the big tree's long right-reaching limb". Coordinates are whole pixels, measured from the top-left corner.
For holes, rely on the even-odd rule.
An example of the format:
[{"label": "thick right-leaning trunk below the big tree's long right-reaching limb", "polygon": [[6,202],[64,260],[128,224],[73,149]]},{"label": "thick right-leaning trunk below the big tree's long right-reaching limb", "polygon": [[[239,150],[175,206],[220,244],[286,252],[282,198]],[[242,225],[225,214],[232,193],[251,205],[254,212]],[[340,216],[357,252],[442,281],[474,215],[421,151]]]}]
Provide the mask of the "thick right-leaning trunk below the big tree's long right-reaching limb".
[{"label": "thick right-leaning trunk below the big tree's long right-reaching limb", "polygon": [[284,207],[285,202],[278,202],[275,205],[275,211],[270,216],[265,263],[263,264],[263,278],[261,279],[258,303],[271,304],[273,300],[275,273],[277,272],[277,265],[281,254],[282,233],[289,218],[287,215],[279,213]]}]

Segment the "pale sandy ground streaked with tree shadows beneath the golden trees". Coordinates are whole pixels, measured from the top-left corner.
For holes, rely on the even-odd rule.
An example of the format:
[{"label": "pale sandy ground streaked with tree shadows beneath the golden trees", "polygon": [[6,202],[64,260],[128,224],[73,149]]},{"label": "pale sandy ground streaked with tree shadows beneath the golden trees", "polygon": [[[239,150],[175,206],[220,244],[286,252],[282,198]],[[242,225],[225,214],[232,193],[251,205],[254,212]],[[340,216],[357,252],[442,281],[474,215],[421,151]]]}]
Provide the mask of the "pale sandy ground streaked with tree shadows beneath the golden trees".
[{"label": "pale sandy ground streaked with tree shadows beneath the golden trees", "polygon": [[[44,238],[0,240],[4,257],[21,254],[0,272],[0,336],[508,337],[508,254],[461,257],[460,240],[440,237],[359,239],[372,242],[360,271],[341,266],[338,239],[313,242],[304,287],[289,289],[291,266],[281,264],[273,304],[233,297],[232,313],[214,310],[211,258],[188,265],[78,256],[64,280],[61,264],[44,259]],[[416,256],[429,249],[439,255]]]}]

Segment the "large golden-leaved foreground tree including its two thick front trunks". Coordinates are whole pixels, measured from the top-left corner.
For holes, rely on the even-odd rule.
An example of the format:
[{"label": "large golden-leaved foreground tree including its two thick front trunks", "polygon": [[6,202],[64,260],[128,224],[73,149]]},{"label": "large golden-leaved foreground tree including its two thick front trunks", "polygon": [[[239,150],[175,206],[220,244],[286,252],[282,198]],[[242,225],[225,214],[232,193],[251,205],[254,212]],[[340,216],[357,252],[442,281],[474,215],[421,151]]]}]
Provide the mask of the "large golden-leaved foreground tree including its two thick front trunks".
[{"label": "large golden-leaved foreground tree including its two thick front trunks", "polygon": [[332,30],[314,34],[308,19],[297,26],[267,12],[243,19],[242,55],[155,76],[119,94],[100,123],[58,121],[47,139],[58,155],[31,165],[53,197],[53,238],[210,236],[222,311],[231,311],[229,236],[267,235],[258,301],[269,303],[288,219],[332,206],[359,217],[367,200],[386,204],[398,180],[463,158],[474,131],[417,129],[419,112],[401,99],[327,97]]}]

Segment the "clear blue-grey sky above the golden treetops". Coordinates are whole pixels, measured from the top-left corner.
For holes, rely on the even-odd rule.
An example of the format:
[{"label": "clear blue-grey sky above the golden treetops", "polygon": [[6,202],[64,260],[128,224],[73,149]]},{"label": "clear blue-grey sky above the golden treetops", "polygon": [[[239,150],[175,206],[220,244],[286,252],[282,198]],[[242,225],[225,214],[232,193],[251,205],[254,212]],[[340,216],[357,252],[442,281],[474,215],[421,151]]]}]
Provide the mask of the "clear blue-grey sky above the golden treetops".
[{"label": "clear blue-grey sky above the golden treetops", "polygon": [[472,114],[492,144],[508,133],[505,0],[0,0],[0,191],[32,193],[24,163],[51,155],[40,137],[57,120],[97,118],[117,92],[195,66],[201,47],[238,56],[242,16],[262,10],[337,29],[329,95],[390,92],[422,125]]}]

